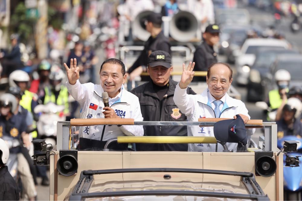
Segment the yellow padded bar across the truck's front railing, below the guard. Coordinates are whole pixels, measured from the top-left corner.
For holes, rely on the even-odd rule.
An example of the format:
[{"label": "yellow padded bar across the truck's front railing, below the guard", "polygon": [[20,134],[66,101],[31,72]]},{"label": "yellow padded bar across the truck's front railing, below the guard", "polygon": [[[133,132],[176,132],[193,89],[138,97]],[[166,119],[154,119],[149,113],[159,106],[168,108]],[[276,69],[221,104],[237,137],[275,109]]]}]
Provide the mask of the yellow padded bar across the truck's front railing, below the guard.
[{"label": "yellow padded bar across the truck's front railing, below the guard", "polygon": [[216,144],[215,137],[187,136],[118,136],[117,143],[208,143]]}]

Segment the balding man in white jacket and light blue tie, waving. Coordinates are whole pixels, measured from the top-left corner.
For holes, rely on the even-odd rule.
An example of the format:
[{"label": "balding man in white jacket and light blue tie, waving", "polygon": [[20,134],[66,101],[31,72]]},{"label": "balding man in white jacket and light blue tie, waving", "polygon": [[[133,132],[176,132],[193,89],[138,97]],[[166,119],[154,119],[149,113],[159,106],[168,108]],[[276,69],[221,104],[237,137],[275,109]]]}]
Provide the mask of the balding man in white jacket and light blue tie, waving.
[{"label": "balding man in white jacket and light blue tie, waving", "polygon": [[[174,93],[174,102],[187,116],[188,121],[198,121],[198,118],[234,118],[240,115],[246,123],[250,116],[244,103],[231,98],[226,92],[232,83],[233,71],[229,64],[215,63],[210,65],[207,71],[208,88],[202,94],[188,95],[186,90],[194,76],[194,62],[190,62],[188,69],[183,72],[181,81],[177,84]],[[246,129],[250,136],[255,128]],[[213,127],[188,126],[188,136],[211,136],[214,137]],[[218,150],[222,146],[218,144]],[[230,150],[236,151],[237,143],[227,143]],[[215,151],[215,144],[189,144],[188,151]]]}]

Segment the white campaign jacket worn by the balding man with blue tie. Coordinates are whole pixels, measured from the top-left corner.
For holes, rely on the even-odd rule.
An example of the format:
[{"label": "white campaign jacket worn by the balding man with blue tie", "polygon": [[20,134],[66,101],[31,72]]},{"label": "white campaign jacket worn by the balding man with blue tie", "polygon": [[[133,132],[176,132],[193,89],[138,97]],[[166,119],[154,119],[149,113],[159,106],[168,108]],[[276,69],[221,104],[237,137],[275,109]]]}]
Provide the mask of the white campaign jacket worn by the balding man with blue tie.
[{"label": "white campaign jacket worn by the balding man with blue tie", "polygon": [[[179,83],[178,83],[179,84]],[[202,94],[188,95],[186,90],[181,89],[177,84],[174,93],[174,102],[187,116],[187,121],[198,121],[198,118],[215,118],[215,112],[208,101],[208,88]],[[226,93],[226,101],[220,112],[219,118],[233,118],[235,115],[243,114],[250,118],[248,110],[244,103],[240,100],[231,98]],[[218,118],[218,117],[216,117]],[[255,132],[255,128],[246,129],[247,135],[250,136]],[[214,137],[214,127],[199,127],[188,126],[188,136],[209,136]],[[229,150],[236,151],[237,143],[227,143]],[[205,151],[215,152],[216,144],[188,144],[188,151]],[[218,150],[223,150],[223,147],[218,144]]]}]

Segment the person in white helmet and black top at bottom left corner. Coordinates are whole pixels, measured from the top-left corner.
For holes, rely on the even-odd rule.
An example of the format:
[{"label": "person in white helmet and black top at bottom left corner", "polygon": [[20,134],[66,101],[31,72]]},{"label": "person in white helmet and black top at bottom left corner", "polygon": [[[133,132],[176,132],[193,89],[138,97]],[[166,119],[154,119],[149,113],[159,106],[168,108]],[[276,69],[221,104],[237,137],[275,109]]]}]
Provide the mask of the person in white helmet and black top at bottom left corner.
[{"label": "person in white helmet and black top at bottom left corner", "polygon": [[19,200],[21,191],[5,165],[8,161],[9,149],[0,138],[0,200]]}]

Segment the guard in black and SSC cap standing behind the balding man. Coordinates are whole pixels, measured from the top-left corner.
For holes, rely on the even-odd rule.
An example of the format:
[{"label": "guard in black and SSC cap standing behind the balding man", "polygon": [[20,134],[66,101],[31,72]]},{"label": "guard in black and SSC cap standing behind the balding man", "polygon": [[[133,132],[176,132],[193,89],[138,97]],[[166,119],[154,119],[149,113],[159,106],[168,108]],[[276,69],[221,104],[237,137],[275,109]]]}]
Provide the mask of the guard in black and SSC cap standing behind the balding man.
[{"label": "guard in black and SSC cap standing behind the balding man", "polygon": [[[220,29],[216,24],[210,24],[202,34],[204,41],[196,48],[193,62],[195,62],[194,71],[207,71],[208,67],[217,63],[217,53],[213,46],[219,42]],[[192,82],[207,81],[206,77],[193,77]]]}]

